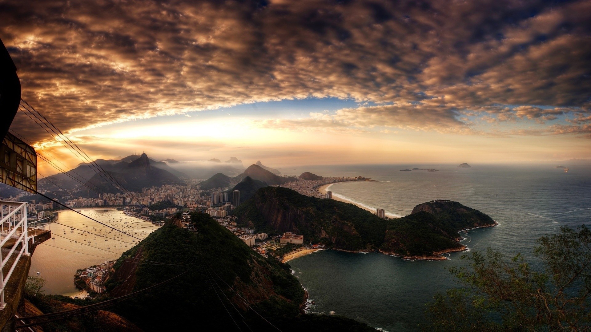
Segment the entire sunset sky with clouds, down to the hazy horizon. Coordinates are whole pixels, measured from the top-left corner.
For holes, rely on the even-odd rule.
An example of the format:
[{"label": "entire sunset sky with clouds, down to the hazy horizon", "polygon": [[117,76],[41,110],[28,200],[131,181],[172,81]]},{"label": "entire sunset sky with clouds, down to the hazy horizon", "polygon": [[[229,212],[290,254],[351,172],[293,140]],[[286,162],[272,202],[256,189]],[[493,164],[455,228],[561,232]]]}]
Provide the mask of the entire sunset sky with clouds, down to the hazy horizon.
[{"label": "entire sunset sky with clouds, down to the hazy horizon", "polygon": [[[588,0],[4,0],[0,38],[92,158],[591,159]],[[24,112],[11,130],[80,162]]]}]

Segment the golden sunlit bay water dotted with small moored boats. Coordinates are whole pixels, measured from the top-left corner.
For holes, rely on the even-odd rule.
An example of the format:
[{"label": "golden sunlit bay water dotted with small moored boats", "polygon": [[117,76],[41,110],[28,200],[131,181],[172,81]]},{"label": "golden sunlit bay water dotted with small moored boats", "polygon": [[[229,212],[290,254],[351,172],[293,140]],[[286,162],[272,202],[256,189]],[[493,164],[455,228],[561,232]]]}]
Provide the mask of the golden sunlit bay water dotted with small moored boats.
[{"label": "golden sunlit bay water dotted with small moored boats", "polygon": [[[144,239],[157,229],[151,222],[126,216],[123,211],[115,209],[78,211],[139,239]],[[93,222],[74,211],[61,211],[57,222],[60,224],[50,223],[46,226],[50,227],[54,239],[49,239],[35,248],[29,272],[29,275],[38,275],[46,279],[47,283],[43,288],[46,294],[79,295],[80,291],[74,286],[74,274],[77,269],[118,259],[138,242],[138,239],[132,236]]]}]

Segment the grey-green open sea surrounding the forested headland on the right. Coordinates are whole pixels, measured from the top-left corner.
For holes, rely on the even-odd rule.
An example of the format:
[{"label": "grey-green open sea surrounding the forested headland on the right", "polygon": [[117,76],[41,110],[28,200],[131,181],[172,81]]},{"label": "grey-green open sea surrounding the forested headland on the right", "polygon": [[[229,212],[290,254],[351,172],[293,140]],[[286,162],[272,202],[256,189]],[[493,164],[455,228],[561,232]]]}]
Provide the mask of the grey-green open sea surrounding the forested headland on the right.
[{"label": "grey-green open sea surrounding the forested headland on the right", "polygon": [[[558,165],[558,164],[556,164]],[[470,230],[463,242],[470,250],[491,247],[508,255],[532,255],[535,241],[559,227],[591,224],[591,167],[556,165],[378,165],[316,167],[320,175],[363,175],[381,182],[333,184],[329,190],[389,216],[405,216],[417,204],[436,199],[459,201],[488,214],[499,226]],[[401,169],[436,168],[439,172]],[[294,170],[297,172],[299,170]],[[284,171],[285,172],[285,171]],[[387,331],[417,330],[427,302],[436,292],[459,285],[446,270],[459,266],[463,253],[449,261],[403,261],[379,253],[322,250],[290,261],[315,302],[311,311],[335,313]]]}]

